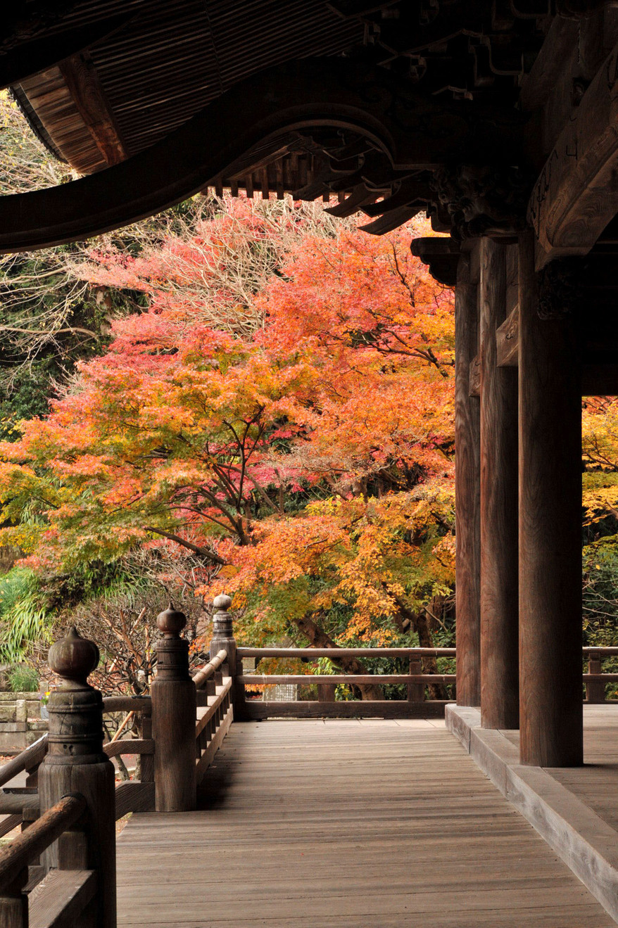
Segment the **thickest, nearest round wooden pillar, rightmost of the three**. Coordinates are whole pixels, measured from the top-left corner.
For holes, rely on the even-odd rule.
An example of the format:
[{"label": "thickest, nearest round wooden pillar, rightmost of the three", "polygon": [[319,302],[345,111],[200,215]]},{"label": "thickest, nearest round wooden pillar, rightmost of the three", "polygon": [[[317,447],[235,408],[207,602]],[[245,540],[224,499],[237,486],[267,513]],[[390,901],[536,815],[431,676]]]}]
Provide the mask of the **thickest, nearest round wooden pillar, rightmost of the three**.
[{"label": "thickest, nearest round wooden pillar, rightmost of the three", "polygon": [[519,277],[521,763],[573,767],[583,762],[580,365],[562,294],[539,316],[532,231]]}]

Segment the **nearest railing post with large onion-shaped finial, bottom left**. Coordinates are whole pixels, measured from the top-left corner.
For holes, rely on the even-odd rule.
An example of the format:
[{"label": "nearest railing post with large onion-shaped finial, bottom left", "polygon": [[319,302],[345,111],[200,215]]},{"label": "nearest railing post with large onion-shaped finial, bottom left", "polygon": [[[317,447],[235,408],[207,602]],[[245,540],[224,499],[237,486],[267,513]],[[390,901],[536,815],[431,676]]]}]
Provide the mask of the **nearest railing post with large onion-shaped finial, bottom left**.
[{"label": "nearest railing post with large onion-shaped finial, bottom left", "polygon": [[[94,641],[75,628],[49,649],[61,682],[49,697],[48,753],[39,767],[41,813],[67,793],[82,793],[84,822],[45,851],[45,867],[96,870],[97,891],[88,913],[96,928],[116,928],[116,796],[114,767],[103,753],[103,699],[88,675],[98,664]],[[84,922],[86,923],[86,922]]]}]

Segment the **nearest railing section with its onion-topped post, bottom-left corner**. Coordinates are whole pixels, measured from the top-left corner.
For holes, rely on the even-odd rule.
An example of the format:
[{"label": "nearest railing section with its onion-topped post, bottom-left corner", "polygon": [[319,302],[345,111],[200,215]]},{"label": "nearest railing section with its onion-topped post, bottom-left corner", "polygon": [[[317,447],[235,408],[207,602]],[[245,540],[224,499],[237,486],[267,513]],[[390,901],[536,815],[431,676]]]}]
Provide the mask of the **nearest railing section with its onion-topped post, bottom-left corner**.
[{"label": "nearest railing section with its onion-topped post, bottom-left corner", "polygon": [[114,769],[101,694],[87,683],[97,663],[97,646],[75,629],[50,648],[61,684],[49,698],[49,733],[0,769],[3,784],[24,770],[32,784],[0,799],[0,812],[22,826],[0,853],[2,928],[115,928]]}]

